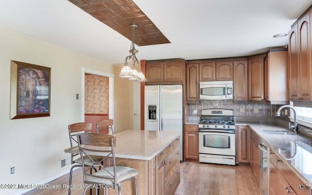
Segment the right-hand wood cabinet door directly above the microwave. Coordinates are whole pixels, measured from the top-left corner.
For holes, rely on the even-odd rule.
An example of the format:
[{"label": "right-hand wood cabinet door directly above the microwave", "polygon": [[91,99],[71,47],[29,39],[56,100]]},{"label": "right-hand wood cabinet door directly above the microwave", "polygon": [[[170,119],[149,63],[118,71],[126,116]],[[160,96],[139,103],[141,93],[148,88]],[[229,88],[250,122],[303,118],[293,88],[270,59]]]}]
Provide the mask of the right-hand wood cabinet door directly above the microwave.
[{"label": "right-hand wood cabinet door directly above the microwave", "polygon": [[215,79],[233,80],[233,61],[216,62]]}]

